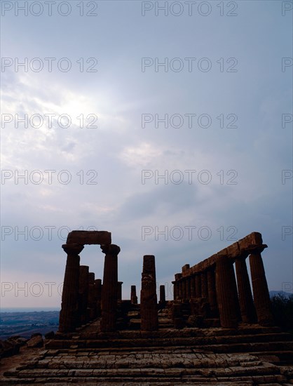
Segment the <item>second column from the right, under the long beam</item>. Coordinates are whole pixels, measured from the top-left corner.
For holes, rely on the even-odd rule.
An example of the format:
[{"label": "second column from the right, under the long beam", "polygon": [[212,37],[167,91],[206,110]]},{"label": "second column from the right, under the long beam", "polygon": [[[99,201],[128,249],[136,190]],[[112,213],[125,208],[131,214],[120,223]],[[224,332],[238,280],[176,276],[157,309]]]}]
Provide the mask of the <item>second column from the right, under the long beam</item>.
[{"label": "second column from the right, under the long beam", "polygon": [[255,323],[257,321],[257,314],[253,304],[250,278],[248,277],[245,259],[246,257],[239,257],[235,260],[241,319],[244,323]]}]

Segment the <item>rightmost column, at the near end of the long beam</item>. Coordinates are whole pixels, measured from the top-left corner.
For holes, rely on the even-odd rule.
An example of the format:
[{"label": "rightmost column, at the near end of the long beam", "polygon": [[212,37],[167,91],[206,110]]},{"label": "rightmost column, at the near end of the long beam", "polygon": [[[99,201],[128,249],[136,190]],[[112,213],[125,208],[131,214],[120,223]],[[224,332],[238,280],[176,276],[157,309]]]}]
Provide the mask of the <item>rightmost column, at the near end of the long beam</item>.
[{"label": "rightmost column, at the near end of the long beam", "polygon": [[257,319],[262,326],[271,326],[273,325],[271,299],[268,293],[268,284],[266,282],[261,253],[253,253],[250,255],[250,272]]}]

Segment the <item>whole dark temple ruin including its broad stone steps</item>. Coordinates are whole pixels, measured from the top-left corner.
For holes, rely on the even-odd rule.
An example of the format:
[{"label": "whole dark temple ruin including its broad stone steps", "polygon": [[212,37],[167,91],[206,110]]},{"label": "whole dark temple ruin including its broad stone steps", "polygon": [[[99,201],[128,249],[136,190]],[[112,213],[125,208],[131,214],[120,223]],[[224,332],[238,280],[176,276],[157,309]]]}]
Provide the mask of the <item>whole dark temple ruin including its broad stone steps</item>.
[{"label": "whole dark temple ruin including its broad stone steps", "polygon": [[[102,279],[80,265],[86,244],[100,245],[105,254]],[[120,248],[111,244],[111,233],[70,232],[62,246],[67,262],[59,331],[46,338],[38,357],[6,371],[0,385],[291,384],[292,334],[273,326],[261,258],[266,247],[253,232],[184,265],[172,281],[173,300],[161,285],[159,301],[155,256],[144,255],[138,302],[134,285],[130,300],[122,298]]]}]

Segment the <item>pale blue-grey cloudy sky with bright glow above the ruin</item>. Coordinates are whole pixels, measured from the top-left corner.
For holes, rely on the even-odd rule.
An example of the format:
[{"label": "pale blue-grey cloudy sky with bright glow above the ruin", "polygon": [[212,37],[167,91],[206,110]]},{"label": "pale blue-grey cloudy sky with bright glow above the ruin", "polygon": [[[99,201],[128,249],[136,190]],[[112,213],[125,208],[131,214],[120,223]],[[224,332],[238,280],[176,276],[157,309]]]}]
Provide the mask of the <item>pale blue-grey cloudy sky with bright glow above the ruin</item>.
[{"label": "pale blue-grey cloudy sky with bright glow above the ruin", "polygon": [[124,298],[143,255],[171,299],[254,231],[292,292],[292,2],[26,4],[1,1],[1,307],[60,306],[72,229],[112,233]]}]

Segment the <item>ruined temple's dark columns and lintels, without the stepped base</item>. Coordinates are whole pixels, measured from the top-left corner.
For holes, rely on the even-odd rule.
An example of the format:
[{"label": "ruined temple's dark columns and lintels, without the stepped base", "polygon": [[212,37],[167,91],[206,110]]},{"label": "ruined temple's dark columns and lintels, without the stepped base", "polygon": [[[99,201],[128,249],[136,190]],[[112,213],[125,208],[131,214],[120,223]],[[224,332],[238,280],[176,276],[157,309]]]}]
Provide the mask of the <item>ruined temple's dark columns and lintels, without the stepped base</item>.
[{"label": "ruined temple's dark columns and lintels, without the stepped base", "polygon": [[[80,265],[79,253],[85,244],[100,244],[105,254],[102,279],[95,279],[89,267]],[[184,265],[182,272],[175,274],[174,299],[168,302],[164,286],[160,288],[158,302],[155,257],[144,255],[140,304],[137,305],[135,286],[131,286],[130,300],[122,300],[122,281],[118,281],[120,248],[111,244],[111,233],[70,232],[67,244],[62,246],[67,263],[59,332],[71,333],[97,318],[102,332],[121,328],[157,331],[158,310],[163,307],[167,307],[175,328],[237,328],[239,323],[272,326],[271,301],[261,258],[266,247],[261,234],[252,232],[192,267]],[[252,288],[246,265],[248,257]],[[133,310],[139,319],[135,324],[128,317]]]}]

